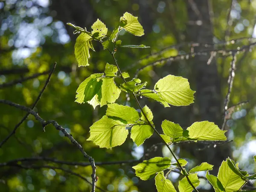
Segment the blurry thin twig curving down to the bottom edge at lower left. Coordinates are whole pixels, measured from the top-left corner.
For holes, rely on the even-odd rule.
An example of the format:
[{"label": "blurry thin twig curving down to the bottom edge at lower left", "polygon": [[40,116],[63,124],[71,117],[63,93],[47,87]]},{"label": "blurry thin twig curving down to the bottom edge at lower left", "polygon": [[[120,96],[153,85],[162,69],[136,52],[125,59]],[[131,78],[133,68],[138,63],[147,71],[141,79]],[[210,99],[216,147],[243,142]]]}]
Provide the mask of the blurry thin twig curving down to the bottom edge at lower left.
[{"label": "blurry thin twig curving down to the bottom edge at lower left", "polygon": [[[35,166],[35,165],[31,165],[31,166],[24,166],[22,164],[9,164],[8,166],[16,166],[16,167],[19,167],[19,168],[22,168],[22,169],[44,169],[44,168],[47,168],[47,169],[58,169],[58,170],[61,170],[61,171],[64,171],[64,172],[67,172],[71,175],[75,175],[77,177],[80,177],[82,180],[84,180],[85,182],[93,185],[93,183],[91,183],[89,180],[87,180],[87,178],[83,177],[82,175],[76,173],[76,172],[73,172],[69,169],[64,169],[64,168],[61,168],[61,167],[55,167],[55,166],[48,166],[48,165],[43,165],[43,166]],[[105,190],[101,189],[100,187],[97,187],[97,189],[101,190],[102,192],[105,192]]]}]

